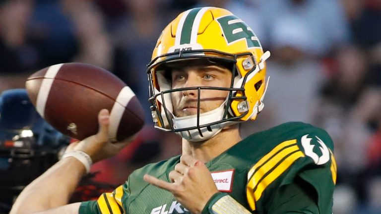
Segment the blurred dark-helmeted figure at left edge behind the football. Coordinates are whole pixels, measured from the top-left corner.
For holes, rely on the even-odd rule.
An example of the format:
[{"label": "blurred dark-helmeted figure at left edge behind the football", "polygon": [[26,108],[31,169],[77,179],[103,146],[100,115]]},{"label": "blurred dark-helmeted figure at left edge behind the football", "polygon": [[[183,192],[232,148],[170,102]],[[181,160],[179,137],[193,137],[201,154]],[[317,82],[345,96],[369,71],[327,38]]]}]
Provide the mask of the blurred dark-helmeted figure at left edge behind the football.
[{"label": "blurred dark-helmeted figure at left edge behind the football", "polygon": [[25,89],[0,94],[0,213],[21,190],[58,161],[70,138],[37,113]]}]

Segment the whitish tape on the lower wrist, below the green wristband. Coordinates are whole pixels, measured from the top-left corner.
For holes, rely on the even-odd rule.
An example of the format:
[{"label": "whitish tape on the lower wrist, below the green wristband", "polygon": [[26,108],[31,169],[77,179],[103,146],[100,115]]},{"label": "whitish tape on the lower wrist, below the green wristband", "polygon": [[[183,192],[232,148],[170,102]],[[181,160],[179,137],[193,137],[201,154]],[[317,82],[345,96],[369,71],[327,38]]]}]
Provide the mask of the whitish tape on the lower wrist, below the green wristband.
[{"label": "whitish tape on the lower wrist, below the green wristband", "polygon": [[220,198],[212,206],[213,214],[251,214],[244,206],[234,200],[231,196],[226,195]]}]

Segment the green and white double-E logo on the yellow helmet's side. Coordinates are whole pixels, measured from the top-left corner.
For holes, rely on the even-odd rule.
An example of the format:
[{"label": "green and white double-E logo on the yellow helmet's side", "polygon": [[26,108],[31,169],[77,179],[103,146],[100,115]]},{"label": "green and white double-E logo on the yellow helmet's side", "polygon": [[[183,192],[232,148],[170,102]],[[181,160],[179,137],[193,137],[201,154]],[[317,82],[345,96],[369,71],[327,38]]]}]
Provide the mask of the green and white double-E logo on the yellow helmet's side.
[{"label": "green and white double-E logo on the yellow helmet's side", "polygon": [[248,48],[261,48],[253,30],[237,16],[227,15],[216,19],[216,21],[220,24],[228,45],[245,39]]}]

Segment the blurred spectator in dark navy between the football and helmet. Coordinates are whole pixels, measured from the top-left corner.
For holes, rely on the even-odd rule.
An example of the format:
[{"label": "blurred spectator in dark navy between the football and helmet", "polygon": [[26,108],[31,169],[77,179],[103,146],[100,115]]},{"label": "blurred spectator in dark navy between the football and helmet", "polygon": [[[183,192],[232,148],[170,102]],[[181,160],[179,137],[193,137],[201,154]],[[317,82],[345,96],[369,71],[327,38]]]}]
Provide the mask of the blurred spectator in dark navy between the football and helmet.
[{"label": "blurred spectator in dark navy between the football and helmet", "polygon": [[[167,24],[160,16],[162,5],[151,0],[124,0],[128,13],[110,24],[116,47],[115,74],[135,92],[145,111],[146,123],[153,123],[148,102],[146,65],[151,60],[161,29]],[[173,18],[173,17],[170,17]]]}]

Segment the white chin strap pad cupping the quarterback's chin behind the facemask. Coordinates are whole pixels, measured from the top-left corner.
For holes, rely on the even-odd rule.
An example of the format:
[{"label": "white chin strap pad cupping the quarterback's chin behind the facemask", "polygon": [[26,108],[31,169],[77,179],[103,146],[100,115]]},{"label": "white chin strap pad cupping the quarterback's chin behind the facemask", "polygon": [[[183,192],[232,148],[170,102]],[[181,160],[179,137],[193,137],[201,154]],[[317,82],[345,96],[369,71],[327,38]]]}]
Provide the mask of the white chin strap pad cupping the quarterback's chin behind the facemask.
[{"label": "white chin strap pad cupping the quarterback's chin behind the facemask", "polygon": [[[225,107],[225,102],[220,107],[214,110],[200,113],[199,125],[201,126],[201,125],[222,120],[223,119],[222,117],[224,115],[224,110],[225,110],[224,107]],[[174,128],[176,129],[196,127],[197,114],[184,116],[184,117],[174,117],[173,125],[174,125]],[[195,128],[189,131],[176,132],[176,134],[182,136],[184,139],[188,141],[193,141],[193,142],[205,141],[212,138],[216,134],[218,134],[224,126],[225,126],[224,123],[219,123],[219,124],[211,125],[209,130],[207,129],[207,127],[203,127],[203,128],[200,128],[200,131],[197,128]]]}]

